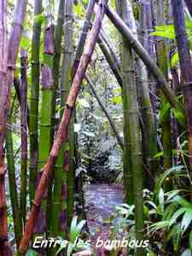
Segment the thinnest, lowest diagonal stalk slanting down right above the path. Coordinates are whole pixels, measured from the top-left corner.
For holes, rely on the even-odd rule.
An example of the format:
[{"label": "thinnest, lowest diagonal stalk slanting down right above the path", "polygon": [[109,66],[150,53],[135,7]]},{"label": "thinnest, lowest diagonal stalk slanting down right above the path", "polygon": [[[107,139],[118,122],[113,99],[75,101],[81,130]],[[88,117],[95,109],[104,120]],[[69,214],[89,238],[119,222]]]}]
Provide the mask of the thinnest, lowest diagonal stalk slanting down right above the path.
[{"label": "thinnest, lowest diagonal stalk slanting down right above the path", "polygon": [[122,141],[122,138],[119,136],[119,132],[118,132],[116,126],[113,123],[113,119],[111,118],[110,114],[108,113],[108,109],[106,109],[105,106],[102,104],[102,101],[100,100],[99,96],[96,93],[96,89],[94,87],[94,84],[93,84],[92,80],[90,79],[90,77],[87,74],[85,75],[85,79],[89,83],[90,90],[92,91],[92,93],[96,97],[96,101],[98,102],[99,106],[102,108],[103,113],[105,113],[105,115],[106,115],[106,117],[108,119],[108,123],[111,126],[113,134],[116,137],[116,139],[117,139],[117,141],[119,143],[120,148],[122,148],[122,150],[124,150],[124,143]]}]

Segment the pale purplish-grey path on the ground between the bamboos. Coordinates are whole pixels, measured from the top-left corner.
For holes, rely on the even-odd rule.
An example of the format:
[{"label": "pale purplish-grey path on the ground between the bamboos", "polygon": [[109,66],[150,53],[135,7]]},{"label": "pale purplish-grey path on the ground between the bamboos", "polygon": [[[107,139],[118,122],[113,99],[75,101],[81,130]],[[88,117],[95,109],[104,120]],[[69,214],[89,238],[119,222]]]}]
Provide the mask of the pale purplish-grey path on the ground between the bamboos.
[{"label": "pale purplish-grey path on the ground between the bamboos", "polygon": [[95,246],[99,236],[102,241],[108,240],[110,218],[123,202],[123,190],[113,184],[89,184],[84,186],[84,196],[90,241]]}]

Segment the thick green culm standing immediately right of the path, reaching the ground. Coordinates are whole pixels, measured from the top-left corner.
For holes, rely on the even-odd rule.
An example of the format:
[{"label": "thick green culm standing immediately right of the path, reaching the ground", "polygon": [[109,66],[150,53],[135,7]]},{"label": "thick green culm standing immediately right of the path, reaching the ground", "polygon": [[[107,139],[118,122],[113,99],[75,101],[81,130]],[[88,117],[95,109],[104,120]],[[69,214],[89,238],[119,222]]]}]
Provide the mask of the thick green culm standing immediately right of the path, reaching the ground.
[{"label": "thick green culm standing immediately right of the path, reaching the ground", "polygon": [[[130,13],[131,3],[125,0],[117,1],[117,7],[119,15],[122,17],[122,20],[125,21],[127,26],[130,26],[131,29],[134,29],[134,24],[131,18]],[[127,115],[127,123],[124,124],[124,131],[126,133],[125,137],[125,147],[128,146],[130,154],[128,155],[128,160],[124,157],[124,166],[128,169],[125,173],[125,184],[129,185],[131,183],[133,196],[135,203],[135,219],[136,219],[136,238],[138,241],[143,240],[143,230],[144,230],[144,221],[143,221],[143,164],[142,164],[142,143],[141,143],[141,131],[139,125],[139,110],[137,103],[137,87],[135,81],[135,72],[134,72],[134,55],[131,49],[131,46],[123,38],[123,49],[122,49],[122,73],[123,73],[123,104],[124,104],[124,116]],[[126,161],[125,161],[126,160]],[[129,166],[127,166],[129,165]],[[129,181],[131,179],[131,182]],[[133,199],[129,199],[133,201]],[[137,248],[137,256],[145,255],[143,248]]]}]

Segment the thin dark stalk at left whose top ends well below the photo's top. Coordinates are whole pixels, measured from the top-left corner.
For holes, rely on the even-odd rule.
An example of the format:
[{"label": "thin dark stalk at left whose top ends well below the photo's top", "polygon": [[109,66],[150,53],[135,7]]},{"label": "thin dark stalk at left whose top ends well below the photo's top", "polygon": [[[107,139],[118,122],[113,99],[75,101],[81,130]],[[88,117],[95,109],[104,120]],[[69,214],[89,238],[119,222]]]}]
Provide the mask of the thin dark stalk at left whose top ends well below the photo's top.
[{"label": "thin dark stalk at left whose top ends well below the photo's top", "polygon": [[26,50],[20,52],[20,215],[26,223],[26,186],[27,186],[27,55]]}]

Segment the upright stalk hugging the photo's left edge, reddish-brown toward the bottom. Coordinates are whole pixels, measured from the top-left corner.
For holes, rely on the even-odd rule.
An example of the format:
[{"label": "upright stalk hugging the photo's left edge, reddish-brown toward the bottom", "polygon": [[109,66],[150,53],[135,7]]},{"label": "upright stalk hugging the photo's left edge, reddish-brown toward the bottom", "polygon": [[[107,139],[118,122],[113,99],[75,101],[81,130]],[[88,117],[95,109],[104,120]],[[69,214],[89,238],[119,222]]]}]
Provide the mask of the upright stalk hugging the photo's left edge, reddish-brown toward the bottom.
[{"label": "upright stalk hugging the photo's left edge, reddish-brown toward the bottom", "polygon": [[[3,98],[3,102],[6,103],[5,106],[1,106],[0,109],[0,252],[5,255],[5,241],[8,241],[8,227],[7,227],[7,204],[5,195],[5,164],[4,164],[4,136],[6,130],[6,119],[8,110],[8,96],[3,89],[8,90],[8,83],[6,78],[6,65],[7,65],[7,1],[0,1],[0,99]],[[1,104],[1,102],[0,102]]]}]

